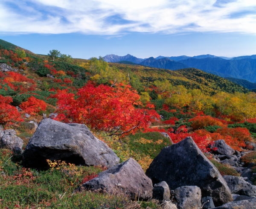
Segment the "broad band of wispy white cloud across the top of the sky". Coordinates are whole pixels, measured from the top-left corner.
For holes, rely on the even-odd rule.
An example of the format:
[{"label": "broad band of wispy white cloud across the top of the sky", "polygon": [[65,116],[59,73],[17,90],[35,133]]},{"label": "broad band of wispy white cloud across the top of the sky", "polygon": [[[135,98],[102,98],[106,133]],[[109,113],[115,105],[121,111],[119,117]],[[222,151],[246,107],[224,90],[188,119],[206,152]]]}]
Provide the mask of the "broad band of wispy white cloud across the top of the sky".
[{"label": "broad band of wispy white cloud across the top of the sky", "polygon": [[1,0],[0,33],[256,34],[253,0]]}]

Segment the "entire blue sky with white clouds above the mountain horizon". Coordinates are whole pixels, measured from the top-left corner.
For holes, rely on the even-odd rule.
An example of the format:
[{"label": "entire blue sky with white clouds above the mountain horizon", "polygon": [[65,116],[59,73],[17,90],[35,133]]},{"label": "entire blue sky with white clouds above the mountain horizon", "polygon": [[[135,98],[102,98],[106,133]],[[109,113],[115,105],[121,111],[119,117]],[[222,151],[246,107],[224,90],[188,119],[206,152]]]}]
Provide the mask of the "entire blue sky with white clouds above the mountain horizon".
[{"label": "entire blue sky with white clouds above the mountain horizon", "polygon": [[1,0],[0,39],[38,54],[256,54],[255,0]]}]

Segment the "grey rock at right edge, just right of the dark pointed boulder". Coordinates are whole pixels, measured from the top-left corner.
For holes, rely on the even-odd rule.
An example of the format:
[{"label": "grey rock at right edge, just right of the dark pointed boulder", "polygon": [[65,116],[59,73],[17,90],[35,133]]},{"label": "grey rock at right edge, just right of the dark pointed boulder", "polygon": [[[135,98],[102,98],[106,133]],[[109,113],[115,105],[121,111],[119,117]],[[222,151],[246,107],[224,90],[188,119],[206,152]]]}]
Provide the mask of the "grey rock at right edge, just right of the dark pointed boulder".
[{"label": "grey rock at right edge, just right of the dark pointed boulder", "polygon": [[246,195],[249,197],[256,197],[256,186],[243,180],[237,176],[224,176],[227,186],[230,188],[232,194]]}]

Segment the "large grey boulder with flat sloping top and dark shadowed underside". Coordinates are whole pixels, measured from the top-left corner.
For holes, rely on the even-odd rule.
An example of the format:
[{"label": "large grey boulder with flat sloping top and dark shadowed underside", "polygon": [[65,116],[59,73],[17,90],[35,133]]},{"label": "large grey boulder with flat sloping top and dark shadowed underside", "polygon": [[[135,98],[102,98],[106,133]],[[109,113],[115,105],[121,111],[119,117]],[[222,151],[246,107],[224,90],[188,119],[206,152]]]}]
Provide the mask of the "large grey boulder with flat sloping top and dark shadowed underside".
[{"label": "large grey boulder with flat sloping top and dark shadowed underside", "polygon": [[119,163],[108,145],[93,136],[85,125],[49,118],[40,122],[23,153],[27,167],[48,168],[46,159],[107,168]]}]

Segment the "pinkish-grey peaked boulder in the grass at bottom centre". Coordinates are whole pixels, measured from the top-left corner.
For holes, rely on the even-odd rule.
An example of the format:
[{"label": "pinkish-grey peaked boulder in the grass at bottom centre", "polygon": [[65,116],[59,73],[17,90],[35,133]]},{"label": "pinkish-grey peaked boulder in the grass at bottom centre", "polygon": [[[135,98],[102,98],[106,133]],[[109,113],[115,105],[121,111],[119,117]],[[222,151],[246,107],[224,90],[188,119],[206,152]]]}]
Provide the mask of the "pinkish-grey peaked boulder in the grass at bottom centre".
[{"label": "pinkish-grey peaked boulder in the grass at bottom centre", "polygon": [[82,184],[78,191],[91,190],[109,194],[126,194],[131,200],[150,200],[152,181],[141,166],[132,158],[115,165],[99,174],[98,177]]}]

